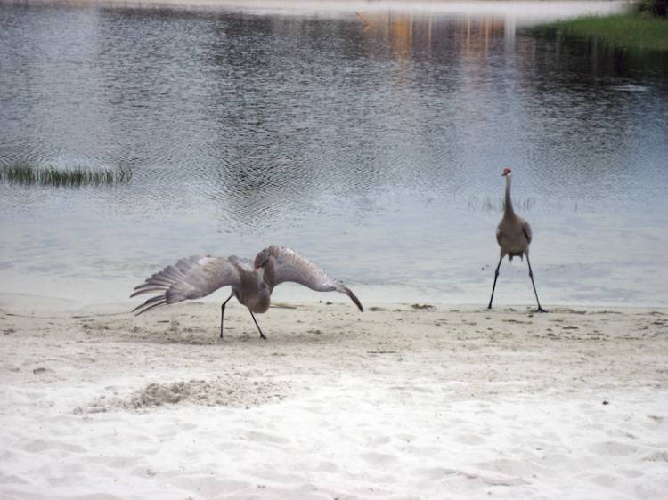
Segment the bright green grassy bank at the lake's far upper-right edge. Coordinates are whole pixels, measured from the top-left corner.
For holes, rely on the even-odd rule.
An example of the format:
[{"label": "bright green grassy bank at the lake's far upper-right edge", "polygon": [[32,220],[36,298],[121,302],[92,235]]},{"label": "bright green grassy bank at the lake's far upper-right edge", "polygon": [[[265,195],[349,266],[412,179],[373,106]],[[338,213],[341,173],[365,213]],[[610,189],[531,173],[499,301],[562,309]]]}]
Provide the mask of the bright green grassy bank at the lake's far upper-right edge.
[{"label": "bright green grassy bank at the lake's far upper-right edge", "polygon": [[647,14],[586,16],[535,28],[540,33],[573,36],[631,50],[668,51],[668,20]]}]

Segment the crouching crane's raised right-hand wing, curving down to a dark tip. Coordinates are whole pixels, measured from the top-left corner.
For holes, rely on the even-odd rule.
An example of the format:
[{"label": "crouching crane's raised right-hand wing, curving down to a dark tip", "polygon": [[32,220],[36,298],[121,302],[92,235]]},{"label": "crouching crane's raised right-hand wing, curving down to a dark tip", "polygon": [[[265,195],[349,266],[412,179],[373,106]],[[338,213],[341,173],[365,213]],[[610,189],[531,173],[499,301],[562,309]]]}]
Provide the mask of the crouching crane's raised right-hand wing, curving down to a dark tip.
[{"label": "crouching crane's raised right-hand wing, curving down to a dark tip", "polygon": [[265,282],[269,286],[281,285],[286,281],[308,286],[316,292],[340,292],[346,294],[359,308],[364,310],[362,303],[353,291],[344,286],[336,278],[330,278],[320,267],[309,261],[303,255],[285,246],[269,246],[260,255],[268,254],[270,258],[265,264]]}]

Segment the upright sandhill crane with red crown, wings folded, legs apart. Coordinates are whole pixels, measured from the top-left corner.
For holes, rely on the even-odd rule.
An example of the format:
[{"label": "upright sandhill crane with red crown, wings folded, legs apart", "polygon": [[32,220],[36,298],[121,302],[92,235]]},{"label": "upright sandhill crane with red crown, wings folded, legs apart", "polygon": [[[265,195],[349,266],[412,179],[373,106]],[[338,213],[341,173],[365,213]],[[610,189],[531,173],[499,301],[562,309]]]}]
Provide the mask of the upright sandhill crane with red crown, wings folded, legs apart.
[{"label": "upright sandhill crane with red crown, wings folded, legs apart", "polygon": [[499,278],[499,268],[501,268],[503,257],[508,255],[508,260],[512,261],[513,257],[522,259],[523,256],[526,255],[526,263],[529,266],[529,278],[531,278],[531,284],[534,286],[534,294],[536,295],[536,302],[538,303],[536,312],[547,312],[547,310],[542,309],[541,302],[538,300],[538,292],[536,292],[534,283],[534,272],[531,270],[531,262],[529,262],[529,244],[531,244],[532,237],[531,226],[529,225],[529,222],[526,222],[525,219],[515,214],[515,211],[513,210],[513,203],[510,199],[510,180],[512,178],[512,170],[504,168],[502,175],[506,178],[506,200],[503,206],[503,218],[496,228],[496,241],[499,243],[499,246],[501,246],[501,258],[499,259],[499,265],[496,266],[496,271],[494,271],[492,296],[489,298],[489,306],[487,309],[492,309],[496,278]]}]

